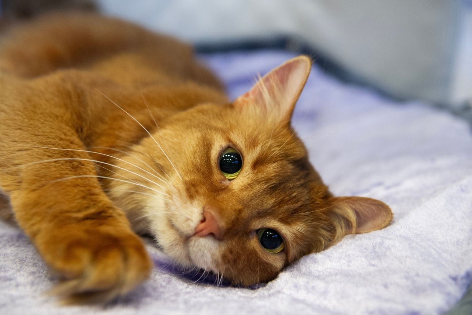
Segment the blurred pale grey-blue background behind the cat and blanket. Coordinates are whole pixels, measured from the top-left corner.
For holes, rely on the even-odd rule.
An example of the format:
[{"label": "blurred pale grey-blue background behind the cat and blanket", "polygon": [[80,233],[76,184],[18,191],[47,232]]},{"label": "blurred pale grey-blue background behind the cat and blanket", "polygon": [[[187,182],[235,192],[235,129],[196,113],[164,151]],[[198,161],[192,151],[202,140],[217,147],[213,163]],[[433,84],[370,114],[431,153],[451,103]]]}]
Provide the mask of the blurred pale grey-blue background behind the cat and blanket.
[{"label": "blurred pale grey-blue background behind the cat and blanket", "polygon": [[472,0],[1,0],[2,19],[99,9],[198,51],[280,48],[399,100],[472,121]]}]

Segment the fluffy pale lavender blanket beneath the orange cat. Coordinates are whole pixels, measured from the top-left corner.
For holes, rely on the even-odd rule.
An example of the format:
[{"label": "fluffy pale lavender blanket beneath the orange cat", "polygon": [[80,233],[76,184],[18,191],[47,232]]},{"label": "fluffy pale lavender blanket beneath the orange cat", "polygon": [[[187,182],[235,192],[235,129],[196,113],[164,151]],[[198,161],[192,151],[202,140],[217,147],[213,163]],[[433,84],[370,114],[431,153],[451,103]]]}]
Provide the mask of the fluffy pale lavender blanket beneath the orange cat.
[{"label": "fluffy pale lavender blanket beneath the orange cat", "polygon": [[[203,56],[247,91],[288,53]],[[459,118],[396,103],[314,68],[293,124],[336,195],[386,202],[394,222],[303,257],[259,288],[217,286],[184,273],[148,241],[155,268],[133,293],[103,308],[59,307],[52,278],[17,228],[0,223],[0,309],[5,314],[438,314],[472,281],[472,135]],[[192,283],[196,282],[196,283]]]}]

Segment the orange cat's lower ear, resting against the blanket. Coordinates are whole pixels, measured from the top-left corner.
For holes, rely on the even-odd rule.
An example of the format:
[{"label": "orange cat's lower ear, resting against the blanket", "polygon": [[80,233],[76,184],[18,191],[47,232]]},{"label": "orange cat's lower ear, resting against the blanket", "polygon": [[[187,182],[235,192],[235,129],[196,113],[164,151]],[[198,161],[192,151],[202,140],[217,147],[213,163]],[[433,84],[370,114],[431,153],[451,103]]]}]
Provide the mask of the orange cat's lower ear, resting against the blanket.
[{"label": "orange cat's lower ear, resting against the blanket", "polygon": [[328,208],[335,227],[335,241],[346,234],[366,233],[386,227],[392,210],[382,201],[364,197],[332,197]]}]

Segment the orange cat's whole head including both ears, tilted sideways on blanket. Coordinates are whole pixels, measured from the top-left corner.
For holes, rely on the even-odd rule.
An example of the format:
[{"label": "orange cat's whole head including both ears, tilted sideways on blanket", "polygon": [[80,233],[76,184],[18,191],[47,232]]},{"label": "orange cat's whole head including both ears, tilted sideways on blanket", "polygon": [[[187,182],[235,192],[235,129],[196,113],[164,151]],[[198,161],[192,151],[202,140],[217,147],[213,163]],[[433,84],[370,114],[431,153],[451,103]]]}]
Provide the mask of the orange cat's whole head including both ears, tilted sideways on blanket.
[{"label": "orange cat's whole head including both ears, tilted sideways on blanket", "polygon": [[293,58],[233,103],[198,105],[143,140],[142,155],[129,158],[156,184],[133,177],[154,191],[114,198],[130,221],[177,263],[242,285],[269,281],[348,233],[385,227],[392,213],[381,201],[329,192],[290,126],[310,69],[309,58]]}]

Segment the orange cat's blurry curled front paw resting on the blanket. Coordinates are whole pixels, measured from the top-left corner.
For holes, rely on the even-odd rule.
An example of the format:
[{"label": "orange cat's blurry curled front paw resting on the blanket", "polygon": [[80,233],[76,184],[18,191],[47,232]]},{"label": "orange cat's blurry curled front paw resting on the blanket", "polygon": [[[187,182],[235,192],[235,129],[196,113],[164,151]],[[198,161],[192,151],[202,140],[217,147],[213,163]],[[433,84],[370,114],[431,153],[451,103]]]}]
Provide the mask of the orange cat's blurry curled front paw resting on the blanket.
[{"label": "orange cat's blurry curled front paw resting on the blanket", "polygon": [[122,224],[83,224],[37,242],[62,279],[51,293],[66,304],[106,303],[145,281],[152,263],[142,241]]}]

